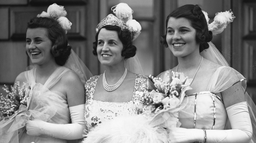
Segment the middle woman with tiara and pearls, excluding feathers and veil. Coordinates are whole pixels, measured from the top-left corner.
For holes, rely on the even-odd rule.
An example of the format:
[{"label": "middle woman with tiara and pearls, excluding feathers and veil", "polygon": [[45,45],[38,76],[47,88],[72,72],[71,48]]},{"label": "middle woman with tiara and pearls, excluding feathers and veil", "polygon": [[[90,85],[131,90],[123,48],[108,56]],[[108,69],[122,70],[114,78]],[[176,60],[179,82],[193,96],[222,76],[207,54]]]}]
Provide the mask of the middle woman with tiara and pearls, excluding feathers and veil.
[{"label": "middle woman with tiara and pearls, excluding feathers and veil", "polygon": [[[115,116],[141,113],[144,99],[139,96],[138,91],[147,94],[149,88],[147,77],[135,74],[124,66],[124,60],[136,54],[136,47],[132,45],[131,31],[125,23],[112,14],[102,21],[108,18],[119,21],[126,28],[106,24],[96,33],[93,54],[98,57],[106,71],[92,77],[85,86],[87,98],[85,122],[89,132],[98,123]],[[108,108],[108,111],[102,111],[102,106]],[[92,107],[95,110],[90,110]]]}]

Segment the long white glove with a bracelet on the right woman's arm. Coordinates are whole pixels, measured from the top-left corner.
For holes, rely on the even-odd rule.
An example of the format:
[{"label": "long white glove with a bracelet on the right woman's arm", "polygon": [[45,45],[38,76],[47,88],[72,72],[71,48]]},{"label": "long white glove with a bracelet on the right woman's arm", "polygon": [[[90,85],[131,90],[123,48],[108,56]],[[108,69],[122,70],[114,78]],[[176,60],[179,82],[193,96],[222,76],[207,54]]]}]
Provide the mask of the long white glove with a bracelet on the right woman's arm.
[{"label": "long white glove with a bracelet on the right woman's arm", "polygon": [[[207,143],[248,143],[252,137],[252,125],[246,102],[241,102],[226,108],[231,124],[230,130],[206,130]],[[170,130],[170,142],[203,143],[202,129],[175,128]]]}]

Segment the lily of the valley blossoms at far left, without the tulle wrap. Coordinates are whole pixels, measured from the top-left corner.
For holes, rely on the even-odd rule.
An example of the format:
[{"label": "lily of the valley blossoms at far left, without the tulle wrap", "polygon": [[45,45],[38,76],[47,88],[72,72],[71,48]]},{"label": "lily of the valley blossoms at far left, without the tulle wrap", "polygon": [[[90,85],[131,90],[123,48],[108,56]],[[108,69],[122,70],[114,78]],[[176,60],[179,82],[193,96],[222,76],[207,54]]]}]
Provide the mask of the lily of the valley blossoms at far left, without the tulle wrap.
[{"label": "lily of the valley blossoms at far left, without the tulle wrap", "polygon": [[18,114],[20,107],[27,106],[30,89],[31,87],[28,84],[23,84],[20,87],[19,82],[15,83],[14,87],[11,87],[11,91],[6,85],[5,88],[3,87],[7,95],[3,95],[2,93],[0,95],[0,121],[4,120],[6,122],[6,119]]}]

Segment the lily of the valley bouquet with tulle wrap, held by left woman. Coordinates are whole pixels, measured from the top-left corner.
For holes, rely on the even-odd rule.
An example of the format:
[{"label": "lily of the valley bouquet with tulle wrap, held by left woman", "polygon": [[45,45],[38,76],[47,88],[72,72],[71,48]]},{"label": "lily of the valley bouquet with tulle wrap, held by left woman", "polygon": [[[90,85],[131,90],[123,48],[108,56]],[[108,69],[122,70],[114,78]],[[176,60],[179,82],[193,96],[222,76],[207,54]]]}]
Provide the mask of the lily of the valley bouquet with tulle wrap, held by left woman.
[{"label": "lily of the valley bouquet with tulle wrap, held by left woman", "polygon": [[2,140],[6,140],[16,138],[14,131],[26,123],[31,86],[25,83],[20,86],[16,82],[11,90],[7,86],[3,90],[7,94],[0,95],[0,136]]}]

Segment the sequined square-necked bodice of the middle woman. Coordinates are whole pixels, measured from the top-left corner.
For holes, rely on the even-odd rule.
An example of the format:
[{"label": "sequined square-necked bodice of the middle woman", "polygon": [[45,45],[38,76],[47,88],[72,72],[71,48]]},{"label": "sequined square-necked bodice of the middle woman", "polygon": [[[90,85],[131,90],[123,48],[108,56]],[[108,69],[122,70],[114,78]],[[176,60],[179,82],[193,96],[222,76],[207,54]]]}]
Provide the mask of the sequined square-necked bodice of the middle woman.
[{"label": "sequined square-necked bodice of the middle woman", "polygon": [[142,109],[145,106],[144,96],[149,94],[148,78],[138,74],[135,75],[133,99],[130,102],[124,103],[103,102],[93,99],[99,75],[91,77],[86,82],[85,89],[88,99],[85,103],[85,123],[89,131],[97,124],[117,116],[134,116],[142,113]]}]

